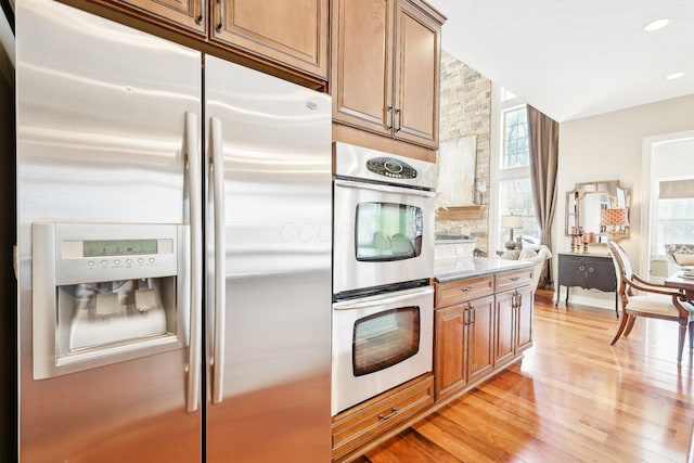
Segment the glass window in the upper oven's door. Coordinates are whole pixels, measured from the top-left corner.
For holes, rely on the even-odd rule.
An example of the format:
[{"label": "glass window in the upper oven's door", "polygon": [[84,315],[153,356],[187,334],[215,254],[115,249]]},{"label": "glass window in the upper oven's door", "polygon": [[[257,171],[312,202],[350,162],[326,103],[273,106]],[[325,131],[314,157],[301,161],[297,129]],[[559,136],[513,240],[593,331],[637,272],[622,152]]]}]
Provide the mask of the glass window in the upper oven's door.
[{"label": "glass window in the upper oven's door", "polygon": [[422,253],[422,208],[398,203],[357,205],[359,261],[400,260]]}]

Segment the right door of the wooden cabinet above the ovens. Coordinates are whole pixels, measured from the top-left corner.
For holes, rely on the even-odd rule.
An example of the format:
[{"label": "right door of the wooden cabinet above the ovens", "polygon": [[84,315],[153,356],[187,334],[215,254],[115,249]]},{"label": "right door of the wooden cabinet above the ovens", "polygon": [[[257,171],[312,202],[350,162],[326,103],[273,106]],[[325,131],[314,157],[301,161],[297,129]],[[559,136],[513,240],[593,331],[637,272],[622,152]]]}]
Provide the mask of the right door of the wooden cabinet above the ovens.
[{"label": "right door of the wooden cabinet above the ovens", "polygon": [[441,25],[412,4],[397,3],[393,136],[438,146]]}]

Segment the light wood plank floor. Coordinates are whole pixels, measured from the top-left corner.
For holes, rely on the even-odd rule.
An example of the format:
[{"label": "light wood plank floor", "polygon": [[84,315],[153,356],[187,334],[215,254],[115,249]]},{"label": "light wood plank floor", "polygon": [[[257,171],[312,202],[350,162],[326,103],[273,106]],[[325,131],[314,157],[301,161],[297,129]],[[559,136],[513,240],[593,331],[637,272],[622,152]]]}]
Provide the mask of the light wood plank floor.
[{"label": "light wood plank floor", "polygon": [[686,462],[694,373],[676,323],[641,319],[611,347],[614,311],[551,297],[522,363],[357,462]]}]

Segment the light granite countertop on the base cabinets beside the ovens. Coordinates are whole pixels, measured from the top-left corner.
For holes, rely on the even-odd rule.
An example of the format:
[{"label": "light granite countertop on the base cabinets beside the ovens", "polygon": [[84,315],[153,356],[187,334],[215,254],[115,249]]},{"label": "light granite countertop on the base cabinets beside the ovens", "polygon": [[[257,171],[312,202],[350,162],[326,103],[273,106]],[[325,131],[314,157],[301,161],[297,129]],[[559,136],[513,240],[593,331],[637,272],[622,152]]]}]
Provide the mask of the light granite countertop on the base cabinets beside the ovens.
[{"label": "light granite countertop on the base cabinets beside the ovens", "polygon": [[509,260],[498,257],[444,258],[434,260],[434,278],[439,283],[446,283],[532,266],[534,263],[527,260]]}]

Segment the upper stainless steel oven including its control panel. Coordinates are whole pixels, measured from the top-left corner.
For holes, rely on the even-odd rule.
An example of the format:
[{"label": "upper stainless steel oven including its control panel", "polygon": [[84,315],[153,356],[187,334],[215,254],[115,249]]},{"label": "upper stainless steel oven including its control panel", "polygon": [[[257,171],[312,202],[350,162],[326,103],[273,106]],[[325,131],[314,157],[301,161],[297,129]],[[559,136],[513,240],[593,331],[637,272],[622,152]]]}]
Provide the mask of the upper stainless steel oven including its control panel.
[{"label": "upper stainless steel oven including its control panel", "polygon": [[333,293],[434,274],[436,164],[334,143]]}]

